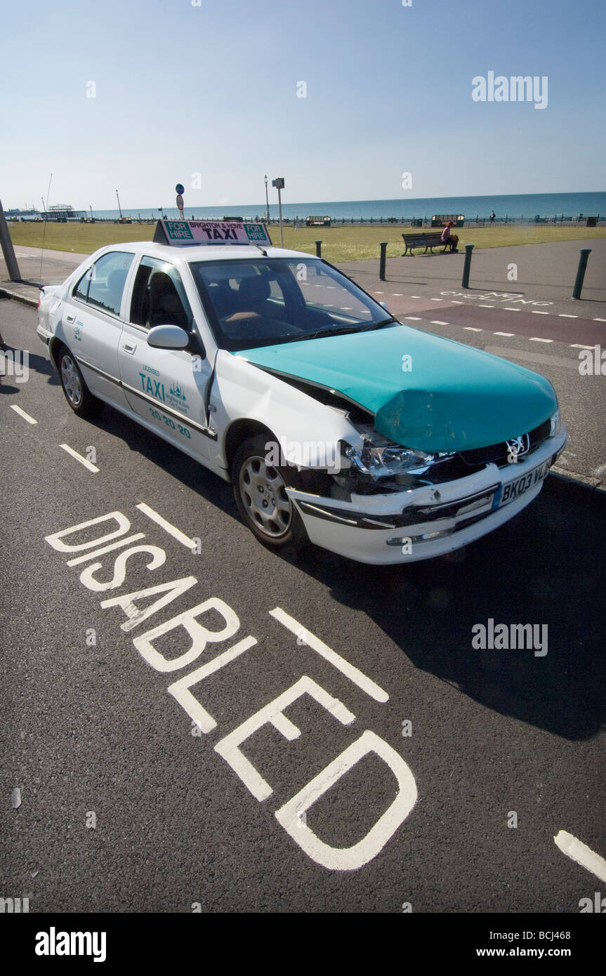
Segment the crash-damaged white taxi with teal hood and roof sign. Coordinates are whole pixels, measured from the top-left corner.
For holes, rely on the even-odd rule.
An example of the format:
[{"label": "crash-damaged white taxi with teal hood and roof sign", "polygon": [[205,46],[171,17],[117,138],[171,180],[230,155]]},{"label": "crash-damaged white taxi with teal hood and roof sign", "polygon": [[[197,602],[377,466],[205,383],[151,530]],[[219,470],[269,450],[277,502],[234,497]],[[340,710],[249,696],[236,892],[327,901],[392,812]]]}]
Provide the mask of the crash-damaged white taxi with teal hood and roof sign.
[{"label": "crash-damaged white taxi with teal hood and roof sign", "polygon": [[231,481],[274,549],[459,549],[532,502],[566,442],[544,377],[400,323],[263,224],[101,248],[42,289],[38,335],[76,414],[110,404]]}]

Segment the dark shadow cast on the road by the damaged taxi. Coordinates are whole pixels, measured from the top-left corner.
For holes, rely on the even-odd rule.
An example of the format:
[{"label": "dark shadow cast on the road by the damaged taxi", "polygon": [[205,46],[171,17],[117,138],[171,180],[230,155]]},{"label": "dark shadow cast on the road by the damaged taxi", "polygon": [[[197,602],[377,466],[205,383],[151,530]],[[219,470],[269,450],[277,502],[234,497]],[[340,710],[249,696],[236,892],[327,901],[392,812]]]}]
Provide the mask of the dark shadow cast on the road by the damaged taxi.
[{"label": "dark shadow cast on the road by the damaged taxi", "polygon": [[[239,520],[231,486],[123,415],[97,422]],[[545,491],[503,528],[426,562],[367,566],[310,548],[274,554],[362,610],[413,664],[479,704],[570,740],[605,725],[606,517]],[[475,624],[547,625],[547,653],[476,650]]]}]

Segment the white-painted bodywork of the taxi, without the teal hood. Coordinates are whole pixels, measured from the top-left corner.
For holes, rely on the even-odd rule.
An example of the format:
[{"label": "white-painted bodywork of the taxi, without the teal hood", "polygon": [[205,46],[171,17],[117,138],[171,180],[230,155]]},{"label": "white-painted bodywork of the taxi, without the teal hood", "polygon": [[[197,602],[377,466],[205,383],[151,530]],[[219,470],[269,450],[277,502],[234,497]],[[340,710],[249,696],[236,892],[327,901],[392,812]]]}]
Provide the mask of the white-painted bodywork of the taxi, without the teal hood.
[{"label": "white-painted bodywork of the taxi, without the teal hood", "polygon": [[[116,254],[132,256],[125,268],[119,310],[110,313],[74,297],[83,274],[103,256]],[[315,261],[307,254],[273,247],[263,254],[268,260]],[[287,484],[286,490],[309,540],[352,559],[400,563],[459,549],[503,525],[532,502],[541,491],[546,470],[564,447],[566,430],[559,422],[552,423],[550,435],[532,453],[519,458],[516,454],[515,464],[488,463],[464,477],[420,483],[401,491],[375,489],[360,494],[340,488],[343,470],[346,475],[354,463],[343,455],[343,444],[350,449],[351,458],[359,460],[365,443],[364,430],[352,420],[346,399],[338,391],[331,402],[335,390],[325,390],[327,402],[321,402],[313,395],[312,384],[294,385],[289,377],[247,361],[246,354],[220,347],[190,270],[194,262],[261,260],[261,255],[257,247],[237,244],[175,247],[138,242],[101,248],[61,285],[43,289],[38,335],[56,368],[61,349],[70,350],[94,397],[227,481],[231,480],[237,445],[254,433],[262,432],[268,443],[281,445],[333,445],[341,452],[337,468],[326,462],[322,467],[316,457],[297,459],[299,464],[293,470],[301,475],[305,469],[322,468],[322,483],[337,487],[318,492],[310,485],[305,490],[300,479]],[[181,277],[193,315],[191,329],[203,344],[203,356],[191,348],[149,346],[149,328],[130,321],[134,284],[143,259],[170,264]],[[87,294],[92,294],[90,287]],[[369,296],[366,299],[379,307]],[[307,345],[310,342],[329,340],[308,340]],[[372,419],[370,423],[372,426]],[[511,436],[522,432],[512,431]],[[335,476],[340,474],[342,481],[338,482]],[[513,491],[515,497],[503,506],[507,491]]]}]

